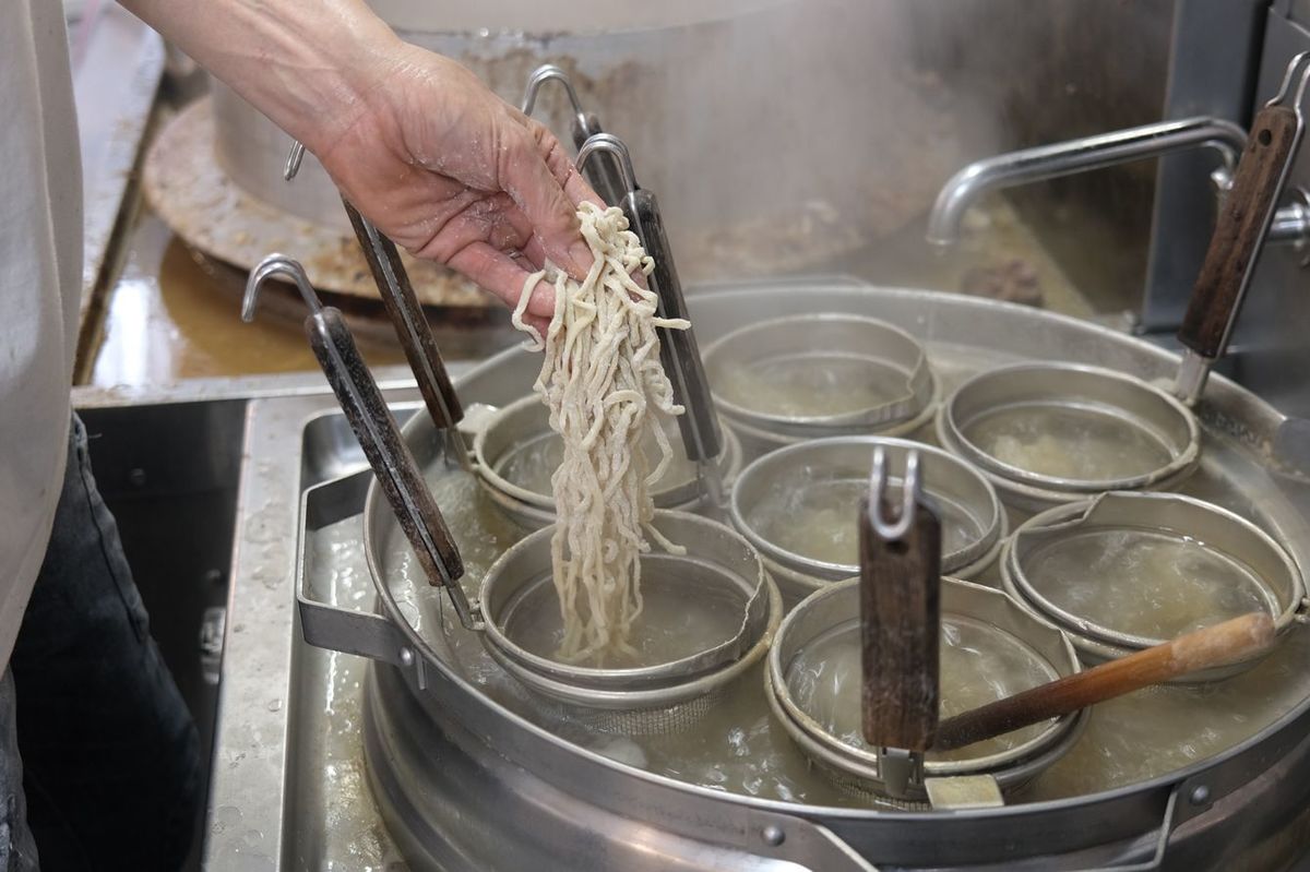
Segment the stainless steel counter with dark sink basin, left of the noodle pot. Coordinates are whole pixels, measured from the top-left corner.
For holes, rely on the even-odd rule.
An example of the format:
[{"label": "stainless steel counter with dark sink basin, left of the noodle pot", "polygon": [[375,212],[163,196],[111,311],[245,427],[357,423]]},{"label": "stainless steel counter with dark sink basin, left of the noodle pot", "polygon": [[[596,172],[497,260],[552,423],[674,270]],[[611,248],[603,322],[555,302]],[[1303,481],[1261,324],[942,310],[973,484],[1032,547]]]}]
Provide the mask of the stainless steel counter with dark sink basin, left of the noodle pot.
[{"label": "stainless steel counter with dark sink basin, left of the noodle pot", "polygon": [[[379,381],[406,420],[419,405],[407,372]],[[211,758],[187,868],[406,868],[354,750],[347,691],[364,661],[310,648],[296,626],[300,495],[365,467],[321,376],[153,395],[80,389],[75,405],[152,631]]]}]

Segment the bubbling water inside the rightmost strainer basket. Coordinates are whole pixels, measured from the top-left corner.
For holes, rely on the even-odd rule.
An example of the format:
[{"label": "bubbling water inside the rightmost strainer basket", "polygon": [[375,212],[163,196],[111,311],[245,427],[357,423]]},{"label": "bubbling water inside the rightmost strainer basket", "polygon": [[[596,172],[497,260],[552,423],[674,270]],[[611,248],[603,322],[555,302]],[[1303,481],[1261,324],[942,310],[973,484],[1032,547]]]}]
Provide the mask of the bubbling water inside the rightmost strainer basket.
[{"label": "bubbling water inside the rightmost strainer basket", "polygon": [[1073,533],[1035,547],[1023,571],[1069,614],[1145,639],[1172,639],[1248,611],[1280,611],[1246,563],[1167,530]]}]

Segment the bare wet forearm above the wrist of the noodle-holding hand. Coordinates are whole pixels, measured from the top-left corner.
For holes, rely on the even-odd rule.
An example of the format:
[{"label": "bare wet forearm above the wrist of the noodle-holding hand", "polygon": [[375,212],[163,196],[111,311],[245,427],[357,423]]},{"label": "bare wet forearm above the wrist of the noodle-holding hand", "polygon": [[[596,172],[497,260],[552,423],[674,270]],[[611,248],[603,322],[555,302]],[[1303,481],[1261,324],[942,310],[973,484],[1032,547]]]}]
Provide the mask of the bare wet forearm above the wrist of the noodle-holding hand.
[{"label": "bare wet forearm above the wrist of the noodle-holding hand", "polygon": [[362,0],[121,0],[312,151],[392,72],[397,37]]}]

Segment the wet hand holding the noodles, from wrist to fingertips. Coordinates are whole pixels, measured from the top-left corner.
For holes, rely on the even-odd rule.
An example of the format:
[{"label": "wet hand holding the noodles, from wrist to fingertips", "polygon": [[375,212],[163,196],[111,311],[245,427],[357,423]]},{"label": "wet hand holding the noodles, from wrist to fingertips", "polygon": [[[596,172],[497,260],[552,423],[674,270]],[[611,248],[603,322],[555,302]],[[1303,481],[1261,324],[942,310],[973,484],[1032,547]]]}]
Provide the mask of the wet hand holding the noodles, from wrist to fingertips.
[{"label": "wet hand holding the noodles, from wrist to fingertips", "polygon": [[[310,144],[341,190],[397,245],[510,306],[546,258],[583,279],[592,257],[576,209],[600,199],[555,136],[456,62],[397,46],[354,123]],[[541,282],[528,313],[553,312]]]}]

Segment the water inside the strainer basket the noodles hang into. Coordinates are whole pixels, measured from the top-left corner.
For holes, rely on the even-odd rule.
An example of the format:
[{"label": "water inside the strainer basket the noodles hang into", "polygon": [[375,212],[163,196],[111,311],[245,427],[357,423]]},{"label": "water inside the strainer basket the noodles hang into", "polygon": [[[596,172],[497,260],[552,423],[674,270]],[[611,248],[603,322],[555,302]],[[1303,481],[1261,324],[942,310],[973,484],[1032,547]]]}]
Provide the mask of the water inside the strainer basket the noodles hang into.
[{"label": "water inside the strainer basket the noodles hang into", "polygon": [[[648,554],[642,558],[642,613],[629,636],[633,651],[603,652],[575,665],[639,669],[694,656],[740,630],[745,604],[741,588],[713,564]],[[565,628],[549,575],[516,596],[500,621],[511,642],[553,659]]]}]

